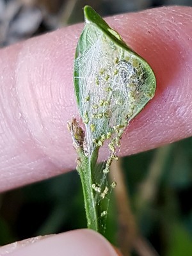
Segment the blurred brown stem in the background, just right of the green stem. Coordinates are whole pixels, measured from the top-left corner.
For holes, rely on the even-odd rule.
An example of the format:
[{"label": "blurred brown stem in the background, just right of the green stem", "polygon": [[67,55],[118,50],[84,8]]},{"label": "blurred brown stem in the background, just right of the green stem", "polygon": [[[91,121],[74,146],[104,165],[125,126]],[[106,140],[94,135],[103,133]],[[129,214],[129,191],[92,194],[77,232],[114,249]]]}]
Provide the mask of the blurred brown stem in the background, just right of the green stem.
[{"label": "blurred brown stem in the background, just right of the green stem", "polygon": [[[130,256],[134,249],[140,256],[158,256],[156,250],[150,245],[144,237],[141,236],[134,214],[131,210],[129,193],[125,185],[124,173],[121,166],[121,159],[113,161],[110,168],[110,176],[118,184],[115,189],[116,204],[118,207],[118,218],[120,227],[119,241],[120,249],[124,256]],[[124,204],[122,204],[124,202]]]}]

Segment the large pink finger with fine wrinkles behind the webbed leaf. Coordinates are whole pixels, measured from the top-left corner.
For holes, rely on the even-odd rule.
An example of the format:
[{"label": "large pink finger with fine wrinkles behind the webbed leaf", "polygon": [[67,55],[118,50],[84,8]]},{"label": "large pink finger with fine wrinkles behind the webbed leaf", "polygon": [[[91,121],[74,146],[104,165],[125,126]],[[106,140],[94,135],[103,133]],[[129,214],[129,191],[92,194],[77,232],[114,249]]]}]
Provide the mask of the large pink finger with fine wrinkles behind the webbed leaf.
[{"label": "large pink finger with fine wrinkles behind the webbed leaf", "polygon": [[[192,134],[192,8],[169,7],[109,17],[109,26],[150,64],[154,99],[129,125],[122,155]],[[67,121],[77,116],[72,81],[83,24],[1,49],[0,191],[75,168]]]}]

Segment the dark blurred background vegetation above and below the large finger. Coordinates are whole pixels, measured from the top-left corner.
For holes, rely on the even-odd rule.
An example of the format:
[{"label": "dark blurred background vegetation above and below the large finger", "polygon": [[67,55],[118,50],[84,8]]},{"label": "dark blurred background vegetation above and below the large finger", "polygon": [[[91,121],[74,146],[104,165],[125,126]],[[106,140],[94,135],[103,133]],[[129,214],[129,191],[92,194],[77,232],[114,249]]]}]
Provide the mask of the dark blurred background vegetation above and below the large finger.
[{"label": "dark blurred background vegetation above and below the large finger", "polygon": [[[81,22],[85,4],[100,15],[113,15],[162,5],[192,6],[192,0],[0,0],[0,46]],[[131,246],[131,255],[147,256],[142,248],[151,253],[155,248],[160,255],[191,256],[192,138],[124,157],[113,168],[124,175],[126,202],[111,195],[106,228],[109,241],[127,256],[130,236],[140,230],[141,239]],[[118,218],[124,211],[121,203],[128,209],[125,222],[129,234]],[[0,245],[84,227],[83,195],[76,171],[0,195]],[[127,238],[125,244],[122,237]]]}]

